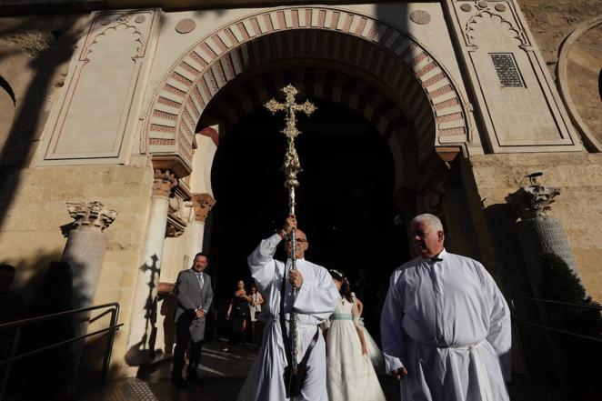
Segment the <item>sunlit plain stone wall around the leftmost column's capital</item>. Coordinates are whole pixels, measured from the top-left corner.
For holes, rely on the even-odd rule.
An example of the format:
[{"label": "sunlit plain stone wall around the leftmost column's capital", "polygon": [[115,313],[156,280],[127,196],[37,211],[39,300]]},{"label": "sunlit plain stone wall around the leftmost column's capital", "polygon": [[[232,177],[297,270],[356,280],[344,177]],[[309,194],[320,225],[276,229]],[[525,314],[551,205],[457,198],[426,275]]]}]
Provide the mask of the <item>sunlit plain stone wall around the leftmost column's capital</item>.
[{"label": "sunlit plain stone wall around the leftmost column's capital", "polygon": [[73,222],[65,202],[97,200],[117,211],[115,222],[105,230],[108,243],[93,305],[120,303],[119,320],[125,326],[115,340],[113,362],[123,364],[152,169],[144,164],[28,168],[10,175],[7,184],[15,191],[0,197],[0,210],[5,210],[1,262],[16,267],[15,290],[24,294],[28,304],[41,290],[49,262],[59,260],[63,252],[66,230]]}]

